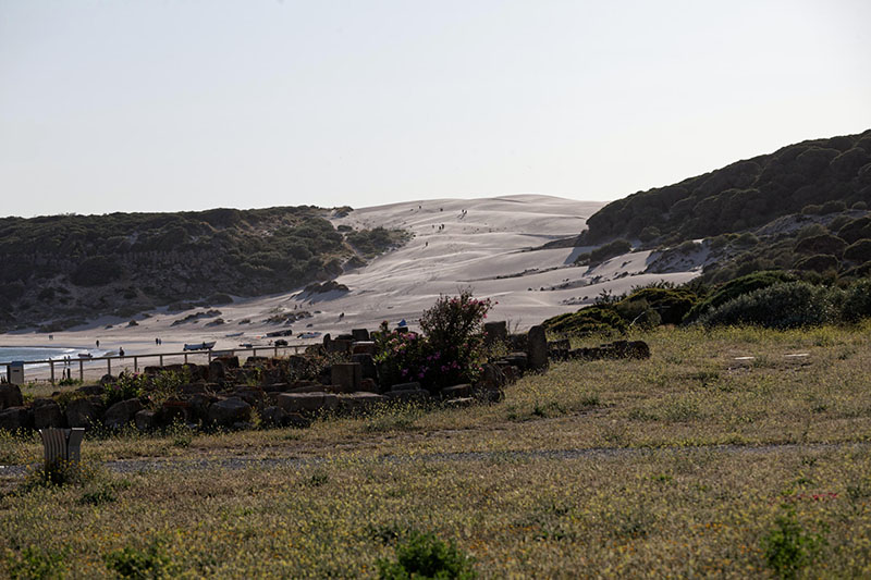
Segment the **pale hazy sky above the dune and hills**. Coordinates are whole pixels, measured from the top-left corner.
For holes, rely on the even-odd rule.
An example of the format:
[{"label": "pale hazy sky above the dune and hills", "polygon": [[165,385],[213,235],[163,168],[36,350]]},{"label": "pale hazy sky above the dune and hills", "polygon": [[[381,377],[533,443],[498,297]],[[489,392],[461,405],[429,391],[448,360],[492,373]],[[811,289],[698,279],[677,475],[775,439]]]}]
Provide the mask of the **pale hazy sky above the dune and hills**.
[{"label": "pale hazy sky above the dune and hills", "polygon": [[869,0],[0,0],[0,215],[616,199],[870,128],[869,23]]}]

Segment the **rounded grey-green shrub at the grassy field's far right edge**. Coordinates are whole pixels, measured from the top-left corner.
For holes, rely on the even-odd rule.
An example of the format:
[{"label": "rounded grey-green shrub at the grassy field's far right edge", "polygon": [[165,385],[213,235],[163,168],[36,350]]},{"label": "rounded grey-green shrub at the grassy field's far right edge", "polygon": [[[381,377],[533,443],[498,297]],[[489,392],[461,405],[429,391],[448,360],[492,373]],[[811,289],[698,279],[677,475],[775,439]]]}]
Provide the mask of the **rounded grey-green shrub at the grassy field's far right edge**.
[{"label": "rounded grey-green shrub at the grassy field's far right edge", "polygon": [[790,329],[839,319],[838,293],[807,282],[787,282],[744,294],[699,318],[707,326],[753,324]]}]

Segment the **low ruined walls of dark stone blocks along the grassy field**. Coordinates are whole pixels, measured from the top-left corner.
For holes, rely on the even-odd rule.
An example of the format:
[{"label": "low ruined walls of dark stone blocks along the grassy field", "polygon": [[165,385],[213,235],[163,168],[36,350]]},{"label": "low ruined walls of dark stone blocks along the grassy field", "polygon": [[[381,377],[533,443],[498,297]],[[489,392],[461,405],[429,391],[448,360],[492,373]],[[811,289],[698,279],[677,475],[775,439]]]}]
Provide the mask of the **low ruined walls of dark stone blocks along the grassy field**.
[{"label": "low ruined walls of dark stone blocks along the grassy field", "polygon": [[[191,380],[179,386],[159,408],[148,408],[146,393],[107,406],[102,384],[86,385],[72,393],[54,393],[25,405],[16,385],[0,384],[0,429],[9,431],[44,428],[91,428],[102,424],[120,429],[134,423],[140,431],[157,430],[173,422],[225,429],[254,428],[255,411],[263,425],[308,427],[324,414],[355,415],[377,406],[414,402],[424,405],[463,407],[476,403],[498,403],[503,390],[526,372],[541,372],[549,362],[565,359],[646,358],[642,342],[616,342],[598,348],[572,350],[568,341],[549,343],[542,326],[526,334],[508,334],[505,322],[484,324],[484,340],[501,342],[507,353],[483,365],[475,384],[456,384],[428,391],[419,383],[384,384],[373,355],[376,344],[369,331],[357,329],[335,338],[329,334],[320,345],[307,347],[305,355],[285,358],[218,357],[209,365],[146,367],[146,374],[181,371]],[[312,360],[332,361],[311,373]],[[101,383],[111,383],[105,377]]]}]

